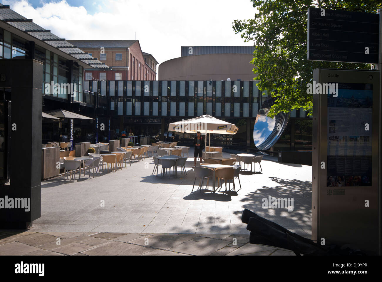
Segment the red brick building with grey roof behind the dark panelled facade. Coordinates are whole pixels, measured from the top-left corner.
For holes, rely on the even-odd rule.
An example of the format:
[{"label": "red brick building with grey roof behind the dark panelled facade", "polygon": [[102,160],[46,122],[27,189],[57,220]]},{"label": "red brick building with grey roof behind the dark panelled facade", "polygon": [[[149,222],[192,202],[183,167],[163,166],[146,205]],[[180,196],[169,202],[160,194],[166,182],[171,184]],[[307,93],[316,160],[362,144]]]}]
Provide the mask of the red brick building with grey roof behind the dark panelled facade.
[{"label": "red brick building with grey roof behind the dark panelled facade", "polygon": [[84,80],[156,80],[157,60],[138,40],[68,40],[112,70],[84,69]]}]

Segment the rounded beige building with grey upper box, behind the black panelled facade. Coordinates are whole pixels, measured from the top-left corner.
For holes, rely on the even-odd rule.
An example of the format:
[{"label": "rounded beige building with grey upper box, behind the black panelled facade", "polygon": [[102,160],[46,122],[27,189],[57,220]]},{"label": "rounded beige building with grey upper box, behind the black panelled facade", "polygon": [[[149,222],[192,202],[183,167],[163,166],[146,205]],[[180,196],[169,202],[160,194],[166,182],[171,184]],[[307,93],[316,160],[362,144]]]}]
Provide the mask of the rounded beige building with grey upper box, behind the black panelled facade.
[{"label": "rounded beige building with grey upper box, behind the black panelled facade", "polygon": [[251,81],[253,51],[253,46],[182,46],[180,58],[159,65],[159,80]]}]

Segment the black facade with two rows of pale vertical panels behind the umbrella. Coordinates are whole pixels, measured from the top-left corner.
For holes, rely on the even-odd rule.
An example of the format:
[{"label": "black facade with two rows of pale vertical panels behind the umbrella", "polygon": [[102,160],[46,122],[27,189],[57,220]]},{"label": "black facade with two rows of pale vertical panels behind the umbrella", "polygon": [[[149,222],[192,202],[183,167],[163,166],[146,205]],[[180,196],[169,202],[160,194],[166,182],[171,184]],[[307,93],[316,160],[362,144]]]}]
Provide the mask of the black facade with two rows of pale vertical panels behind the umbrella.
[{"label": "black facade with two rows of pale vertical panels behind the umbrella", "polygon": [[[211,136],[211,142],[253,146],[254,123],[268,97],[262,95],[256,83],[258,81],[84,81],[84,89],[105,97],[103,106],[107,110],[97,118],[99,123],[110,125],[111,132],[97,131],[100,140],[107,140],[109,134],[111,138],[118,136],[125,129],[132,130],[134,135],[163,139],[169,123],[207,114],[239,128],[233,136]],[[294,110],[291,117],[311,122],[303,110]],[[187,134],[176,135],[179,141],[188,142],[191,138]]]}]

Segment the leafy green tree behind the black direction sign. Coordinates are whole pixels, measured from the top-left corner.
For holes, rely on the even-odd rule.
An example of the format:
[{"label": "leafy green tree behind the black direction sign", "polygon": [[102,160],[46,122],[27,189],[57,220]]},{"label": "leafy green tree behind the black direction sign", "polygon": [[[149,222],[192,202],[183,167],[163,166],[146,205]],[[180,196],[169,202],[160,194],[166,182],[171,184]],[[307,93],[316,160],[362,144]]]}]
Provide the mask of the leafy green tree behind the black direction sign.
[{"label": "leafy green tree behind the black direction sign", "polygon": [[308,8],[376,13],[380,0],[250,0],[254,19],[235,20],[233,29],[244,42],[254,42],[251,63],[260,91],[276,103],[268,115],[303,108],[312,113],[313,97],[306,91],[315,68],[370,69],[367,64],[308,61]]}]

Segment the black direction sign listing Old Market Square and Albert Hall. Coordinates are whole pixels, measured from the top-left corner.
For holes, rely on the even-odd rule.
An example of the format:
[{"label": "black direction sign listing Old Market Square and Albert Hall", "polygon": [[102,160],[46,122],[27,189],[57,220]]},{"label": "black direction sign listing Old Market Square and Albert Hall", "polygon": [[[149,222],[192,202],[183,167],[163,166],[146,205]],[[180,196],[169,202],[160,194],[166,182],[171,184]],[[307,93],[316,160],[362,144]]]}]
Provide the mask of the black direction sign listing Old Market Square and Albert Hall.
[{"label": "black direction sign listing Old Market Square and Albert Hall", "polygon": [[308,60],[378,63],[379,15],[308,9]]}]

